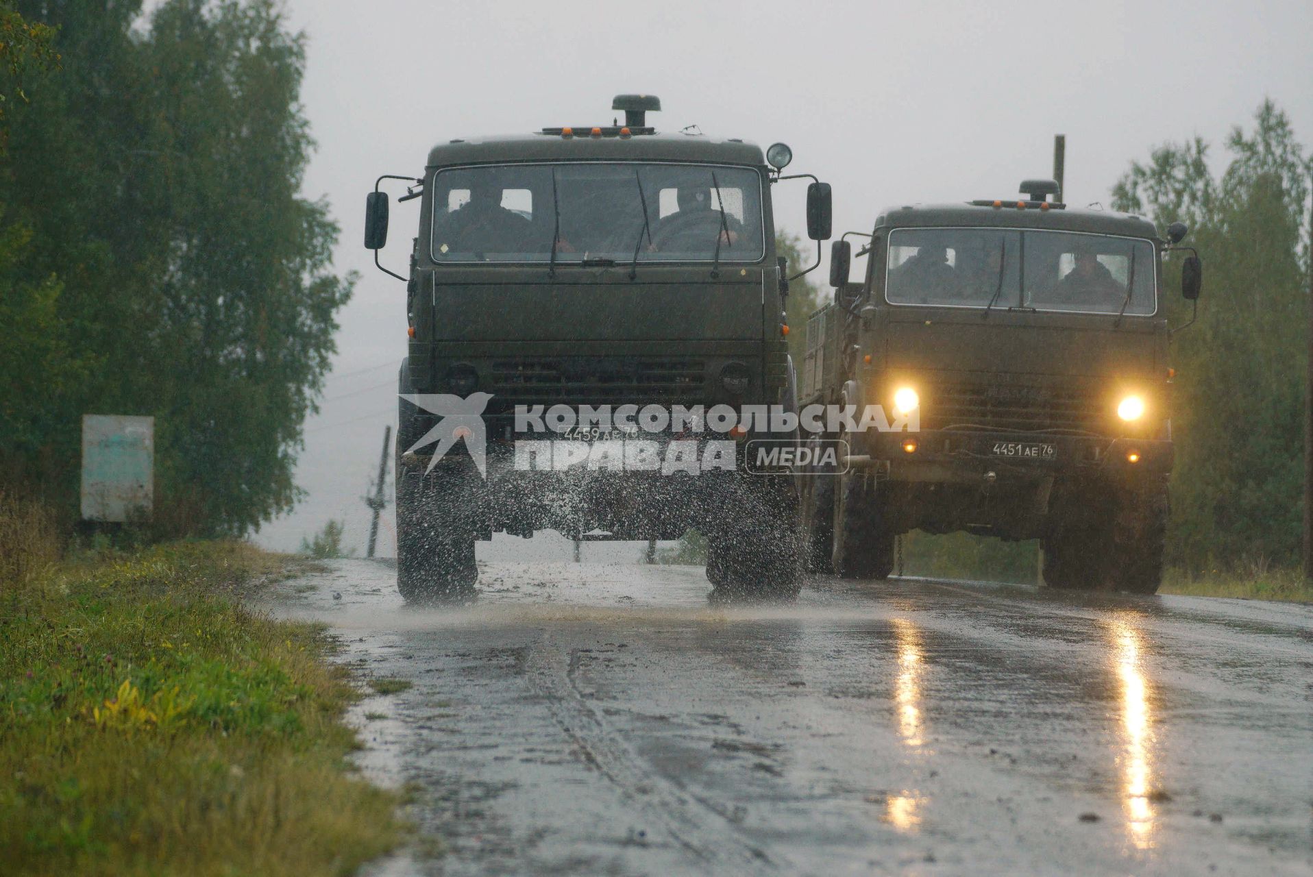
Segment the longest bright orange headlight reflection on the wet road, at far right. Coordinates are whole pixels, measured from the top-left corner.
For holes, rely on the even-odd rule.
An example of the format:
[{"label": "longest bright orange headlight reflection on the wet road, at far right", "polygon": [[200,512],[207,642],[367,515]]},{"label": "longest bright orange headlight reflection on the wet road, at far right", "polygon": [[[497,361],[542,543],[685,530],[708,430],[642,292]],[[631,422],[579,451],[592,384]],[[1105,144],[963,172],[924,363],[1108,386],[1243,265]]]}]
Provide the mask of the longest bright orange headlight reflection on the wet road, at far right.
[{"label": "longest bright orange headlight reflection on the wet road, at far right", "polygon": [[1153,847],[1153,718],[1149,713],[1148,683],[1141,667],[1141,634],[1125,621],[1111,624],[1116,647],[1117,679],[1121,683],[1123,810],[1127,830],[1137,849]]}]

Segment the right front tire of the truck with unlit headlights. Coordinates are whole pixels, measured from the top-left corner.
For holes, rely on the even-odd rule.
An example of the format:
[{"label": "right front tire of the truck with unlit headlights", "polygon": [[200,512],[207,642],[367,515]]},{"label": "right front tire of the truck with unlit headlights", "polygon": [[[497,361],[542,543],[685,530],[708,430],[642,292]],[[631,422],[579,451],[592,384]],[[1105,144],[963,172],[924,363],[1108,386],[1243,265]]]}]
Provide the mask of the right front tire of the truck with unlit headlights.
[{"label": "right front tire of the truck with unlit headlights", "polygon": [[735,491],[741,509],[708,534],[706,579],[712,599],[794,600],[800,575],[797,496],[776,479],[752,479]]}]

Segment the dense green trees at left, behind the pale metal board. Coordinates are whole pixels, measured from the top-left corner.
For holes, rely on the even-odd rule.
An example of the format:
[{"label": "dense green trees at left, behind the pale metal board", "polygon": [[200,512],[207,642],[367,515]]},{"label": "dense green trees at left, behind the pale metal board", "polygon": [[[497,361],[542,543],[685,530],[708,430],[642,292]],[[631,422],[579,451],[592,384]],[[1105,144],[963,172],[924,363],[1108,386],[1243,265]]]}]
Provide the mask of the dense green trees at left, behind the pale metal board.
[{"label": "dense green trees at left, behind the pale metal board", "polygon": [[144,21],[138,1],[18,12],[58,26],[62,66],[12,114],[0,179],[25,230],[0,268],[29,290],[5,315],[26,314],[39,353],[5,374],[41,387],[9,394],[32,410],[0,421],[0,446],[71,498],[79,416],[154,415],[165,515],[259,526],[298,495],[301,424],[353,284],[332,273],[327,205],[299,196],[305,39],[272,0],[167,0]]}]

